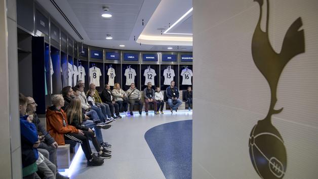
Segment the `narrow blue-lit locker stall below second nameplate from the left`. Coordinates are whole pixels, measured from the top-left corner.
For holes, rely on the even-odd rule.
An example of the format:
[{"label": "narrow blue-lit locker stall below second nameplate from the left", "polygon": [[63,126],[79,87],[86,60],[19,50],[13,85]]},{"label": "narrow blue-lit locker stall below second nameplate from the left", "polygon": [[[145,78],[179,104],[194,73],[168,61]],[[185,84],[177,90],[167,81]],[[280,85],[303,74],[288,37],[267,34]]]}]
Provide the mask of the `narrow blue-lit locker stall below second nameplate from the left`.
[{"label": "narrow blue-lit locker stall below second nameplate from the left", "polygon": [[60,94],[62,90],[61,78],[61,52],[60,52],[60,29],[57,23],[50,20],[50,57],[52,61],[52,91],[53,95]]}]

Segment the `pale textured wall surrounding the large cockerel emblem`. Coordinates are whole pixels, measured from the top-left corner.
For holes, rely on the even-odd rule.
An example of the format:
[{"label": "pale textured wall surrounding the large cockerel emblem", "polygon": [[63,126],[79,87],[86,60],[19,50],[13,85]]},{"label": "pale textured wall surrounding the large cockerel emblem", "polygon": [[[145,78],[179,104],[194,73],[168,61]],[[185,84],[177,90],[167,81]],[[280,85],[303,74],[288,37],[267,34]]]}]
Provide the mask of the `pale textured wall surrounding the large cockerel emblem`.
[{"label": "pale textured wall surrounding the large cockerel emblem", "polygon": [[[284,109],[272,116],[287,151],[284,178],[316,178],[318,1],[269,3],[269,41],[277,53],[298,17],[305,34],[305,53],[287,64],[277,87],[276,109]],[[259,12],[250,0],[193,0],[192,178],[260,178],[249,154],[250,132],[270,103],[269,85],[251,52]],[[266,1],[263,30],[265,13]]]}]

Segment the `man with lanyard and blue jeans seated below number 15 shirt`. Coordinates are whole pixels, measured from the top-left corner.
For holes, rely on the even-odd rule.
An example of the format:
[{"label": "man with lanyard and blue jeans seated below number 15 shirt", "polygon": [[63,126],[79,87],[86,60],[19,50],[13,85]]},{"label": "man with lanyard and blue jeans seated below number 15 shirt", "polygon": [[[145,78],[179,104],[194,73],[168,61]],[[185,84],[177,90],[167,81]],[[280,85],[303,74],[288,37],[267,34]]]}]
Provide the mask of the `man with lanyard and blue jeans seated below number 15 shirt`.
[{"label": "man with lanyard and blue jeans seated below number 15 shirt", "polygon": [[177,112],[178,107],[182,104],[179,99],[179,90],[175,86],[175,81],[171,81],[170,86],[167,87],[168,104],[171,107],[171,112],[175,110]]}]

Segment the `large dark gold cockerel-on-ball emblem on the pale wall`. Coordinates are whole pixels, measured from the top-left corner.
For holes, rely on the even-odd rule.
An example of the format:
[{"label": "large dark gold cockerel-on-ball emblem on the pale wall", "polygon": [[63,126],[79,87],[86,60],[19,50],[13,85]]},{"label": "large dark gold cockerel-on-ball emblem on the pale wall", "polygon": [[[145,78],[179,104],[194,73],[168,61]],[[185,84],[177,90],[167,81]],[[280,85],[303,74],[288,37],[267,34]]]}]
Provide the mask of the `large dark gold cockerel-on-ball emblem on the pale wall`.
[{"label": "large dark gold cockerel-on-ball emblem on the pale wall", "polygon": [[266,0],[265,32],[260,27],[264,2],[263,0],[254,1],[259,3],[260,15],[252,39],[252,56],[256,67],[269,84],[271,100],[267,116],[259,120],[251,131],[250,157],[261,178],[283,178],[287,168],[287,152],[280,132],[271,123],[271,116],[283,111],[283,108],[274,109],[277,102],[277,84],[287,63],[296,55],[305,52],[304,30],[299,30],[302,26],[302,20],[299,17],[288,28],[282,50],[277,54],[268,37],[269,0]]}]

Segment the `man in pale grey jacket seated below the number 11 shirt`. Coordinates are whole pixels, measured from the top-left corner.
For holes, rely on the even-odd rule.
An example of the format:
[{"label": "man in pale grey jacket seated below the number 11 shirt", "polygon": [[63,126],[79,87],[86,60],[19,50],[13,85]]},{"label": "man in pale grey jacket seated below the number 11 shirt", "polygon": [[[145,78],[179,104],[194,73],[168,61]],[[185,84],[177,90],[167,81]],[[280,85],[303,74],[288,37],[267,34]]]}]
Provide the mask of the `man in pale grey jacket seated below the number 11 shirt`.
[{"label": "man in pale grey jacket seated below the number 11 shirt", "polygon": [[141,115],[143,102],[140,101],[141,94],[140,94],[140,91],[138,89],[136,89],[135,83],[131,83],[130,88],[127,90],[126,94],[127,94],[128,99],[129,99],[130,115],[134,115],[133,110],[134,110],[134,105],[136,102],[139,105],[139,114]]}]

